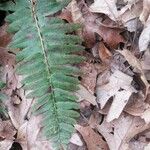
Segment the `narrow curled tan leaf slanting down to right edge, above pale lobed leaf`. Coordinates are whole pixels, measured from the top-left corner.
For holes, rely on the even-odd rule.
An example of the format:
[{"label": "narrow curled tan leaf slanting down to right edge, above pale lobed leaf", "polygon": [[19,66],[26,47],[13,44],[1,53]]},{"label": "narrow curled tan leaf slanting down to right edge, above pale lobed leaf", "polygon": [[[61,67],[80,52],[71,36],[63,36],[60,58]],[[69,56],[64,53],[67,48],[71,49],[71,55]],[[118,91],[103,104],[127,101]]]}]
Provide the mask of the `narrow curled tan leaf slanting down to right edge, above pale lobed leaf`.
[{"label": "narrow curled tan leaf slanting down to right edge, above pale lobed leaf", "polygon": [[142,65],[141,65],[140,61],[129,50],[124,49],[123,51],[118,51],[118,52],[125,57],[125,59],[128,61],[128,63],[134,69],[136,69],[135,71],[140,73],[141,81],[145,85],[144,94],[145,94],[145,96],[147,96],[148,89],[149,89],[149,83],[147,82],[147,79],[144,75],[144,72],[143,72]]}]

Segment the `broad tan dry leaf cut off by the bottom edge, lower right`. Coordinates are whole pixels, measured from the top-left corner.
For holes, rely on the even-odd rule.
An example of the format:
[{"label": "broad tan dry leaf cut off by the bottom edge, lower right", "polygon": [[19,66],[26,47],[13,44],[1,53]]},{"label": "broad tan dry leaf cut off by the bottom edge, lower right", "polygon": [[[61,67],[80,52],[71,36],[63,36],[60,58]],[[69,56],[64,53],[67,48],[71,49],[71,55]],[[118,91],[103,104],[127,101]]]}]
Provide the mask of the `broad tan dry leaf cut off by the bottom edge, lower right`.
[{"label": "broad tan dry leaf cut off by the bottom edge, lower right", "polygon": [[124,113],[111,123],[107,123],[105,118],[104,122],[97,126],[98,131],[104,136],[111,150],[130,149],[129,141],[148,128],[150,128],[150,125],[145,124],[140,117],[133,117]]}]

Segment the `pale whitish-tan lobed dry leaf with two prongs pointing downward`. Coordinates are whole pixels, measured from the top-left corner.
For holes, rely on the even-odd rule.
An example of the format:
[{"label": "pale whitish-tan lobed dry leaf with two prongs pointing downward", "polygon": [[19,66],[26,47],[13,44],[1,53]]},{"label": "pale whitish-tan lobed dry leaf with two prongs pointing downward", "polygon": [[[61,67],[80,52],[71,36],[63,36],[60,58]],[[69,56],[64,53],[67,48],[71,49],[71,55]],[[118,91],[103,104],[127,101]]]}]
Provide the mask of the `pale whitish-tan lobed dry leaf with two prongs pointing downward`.
[{"label": "pale whitish-tan lobed dry leaf with two prongs pointing downward", "polygon": [[97,87],[97,98],[101,109],[111,97],[114,97],[107,116],[108,122],[120,116],[130,96],[136,92],[131,86],[131,82],[132,77],[117,70],[111,75],[109,83]]}]

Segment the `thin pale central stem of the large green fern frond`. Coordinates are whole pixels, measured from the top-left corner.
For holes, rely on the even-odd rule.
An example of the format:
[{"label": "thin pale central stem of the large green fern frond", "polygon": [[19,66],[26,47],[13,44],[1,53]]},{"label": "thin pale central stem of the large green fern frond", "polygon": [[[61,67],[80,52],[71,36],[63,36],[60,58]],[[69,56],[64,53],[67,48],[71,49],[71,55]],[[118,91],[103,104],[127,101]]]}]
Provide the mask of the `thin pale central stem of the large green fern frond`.
[{"label": "thin pale central stem of the large green fern frond", "polygon": [[[38,16],[36,15],[36,0],[31,0],[31,6],[32,6],[32,15],[33,15],[33,18],[34,18],[34,21],[35,21],[35,25],[36,25],[36,28],[37,28],[37,32],[38,32],[38,36],[39,36],[39,39],[40,39],[40,43],[41,43],[41,48],[42,48],[42,52],[43,52],[43,55],[44,55],[44,59],[45,59],[45,65],[46,65],[46,70],[47,70],[47,73],[48,73],[48,77],[49,77],[49,83],[51,85],[51,89],[52,89],[52,100],[53,100],[53,107],[54,107],[54,114],[55,114],[55,124],[57,125],[57,132],[59,133],[60,132],[60,126],[59,126],[59,119],[58,119],[58,113],[57,113],[57,106],[56,106],[56,100],[55,100],[55,93],[53,91],[54,87],[53,87],[53,83],[51,81],[51,70],[50,70],[50,64],[48,62],[48,56],[47,56],[47,52],[46,52],[46,45],[44,43],[44,38],[43,38],[43,35],[42,35],[42,32],[41,32],[41,26],[40,26],[40,23],[39,23],[39,18]],[[59,142],[61,143],[61,140],[60,140],[60,137],[59,137]]]}]

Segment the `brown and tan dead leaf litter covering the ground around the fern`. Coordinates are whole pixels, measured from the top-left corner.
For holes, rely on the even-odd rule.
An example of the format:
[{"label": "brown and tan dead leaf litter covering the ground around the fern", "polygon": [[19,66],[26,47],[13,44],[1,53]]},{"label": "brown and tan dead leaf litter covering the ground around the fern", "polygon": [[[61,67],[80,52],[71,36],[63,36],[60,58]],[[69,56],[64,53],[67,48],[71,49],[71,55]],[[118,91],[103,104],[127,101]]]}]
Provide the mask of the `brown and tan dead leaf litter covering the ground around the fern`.
[{"label": "brown and tan dead leaf litter covering the ground around the fern", "polygon": [[[149,0],[72,0],[60,12],[59,18],[82,25],[76,34],[87,58],[77,66],[83,72],[75,93],[81,116],[69,150],[150,149],[149,6]],[[11,41],[6,30],[1,26],[0,62],[9,118],[0,120],[0,149],[15,141],[23,150],[51,150],[40,134],[41,117],[31,113],[34,101],[25,98],[15,74],[15,55],[5,49]]]}]

